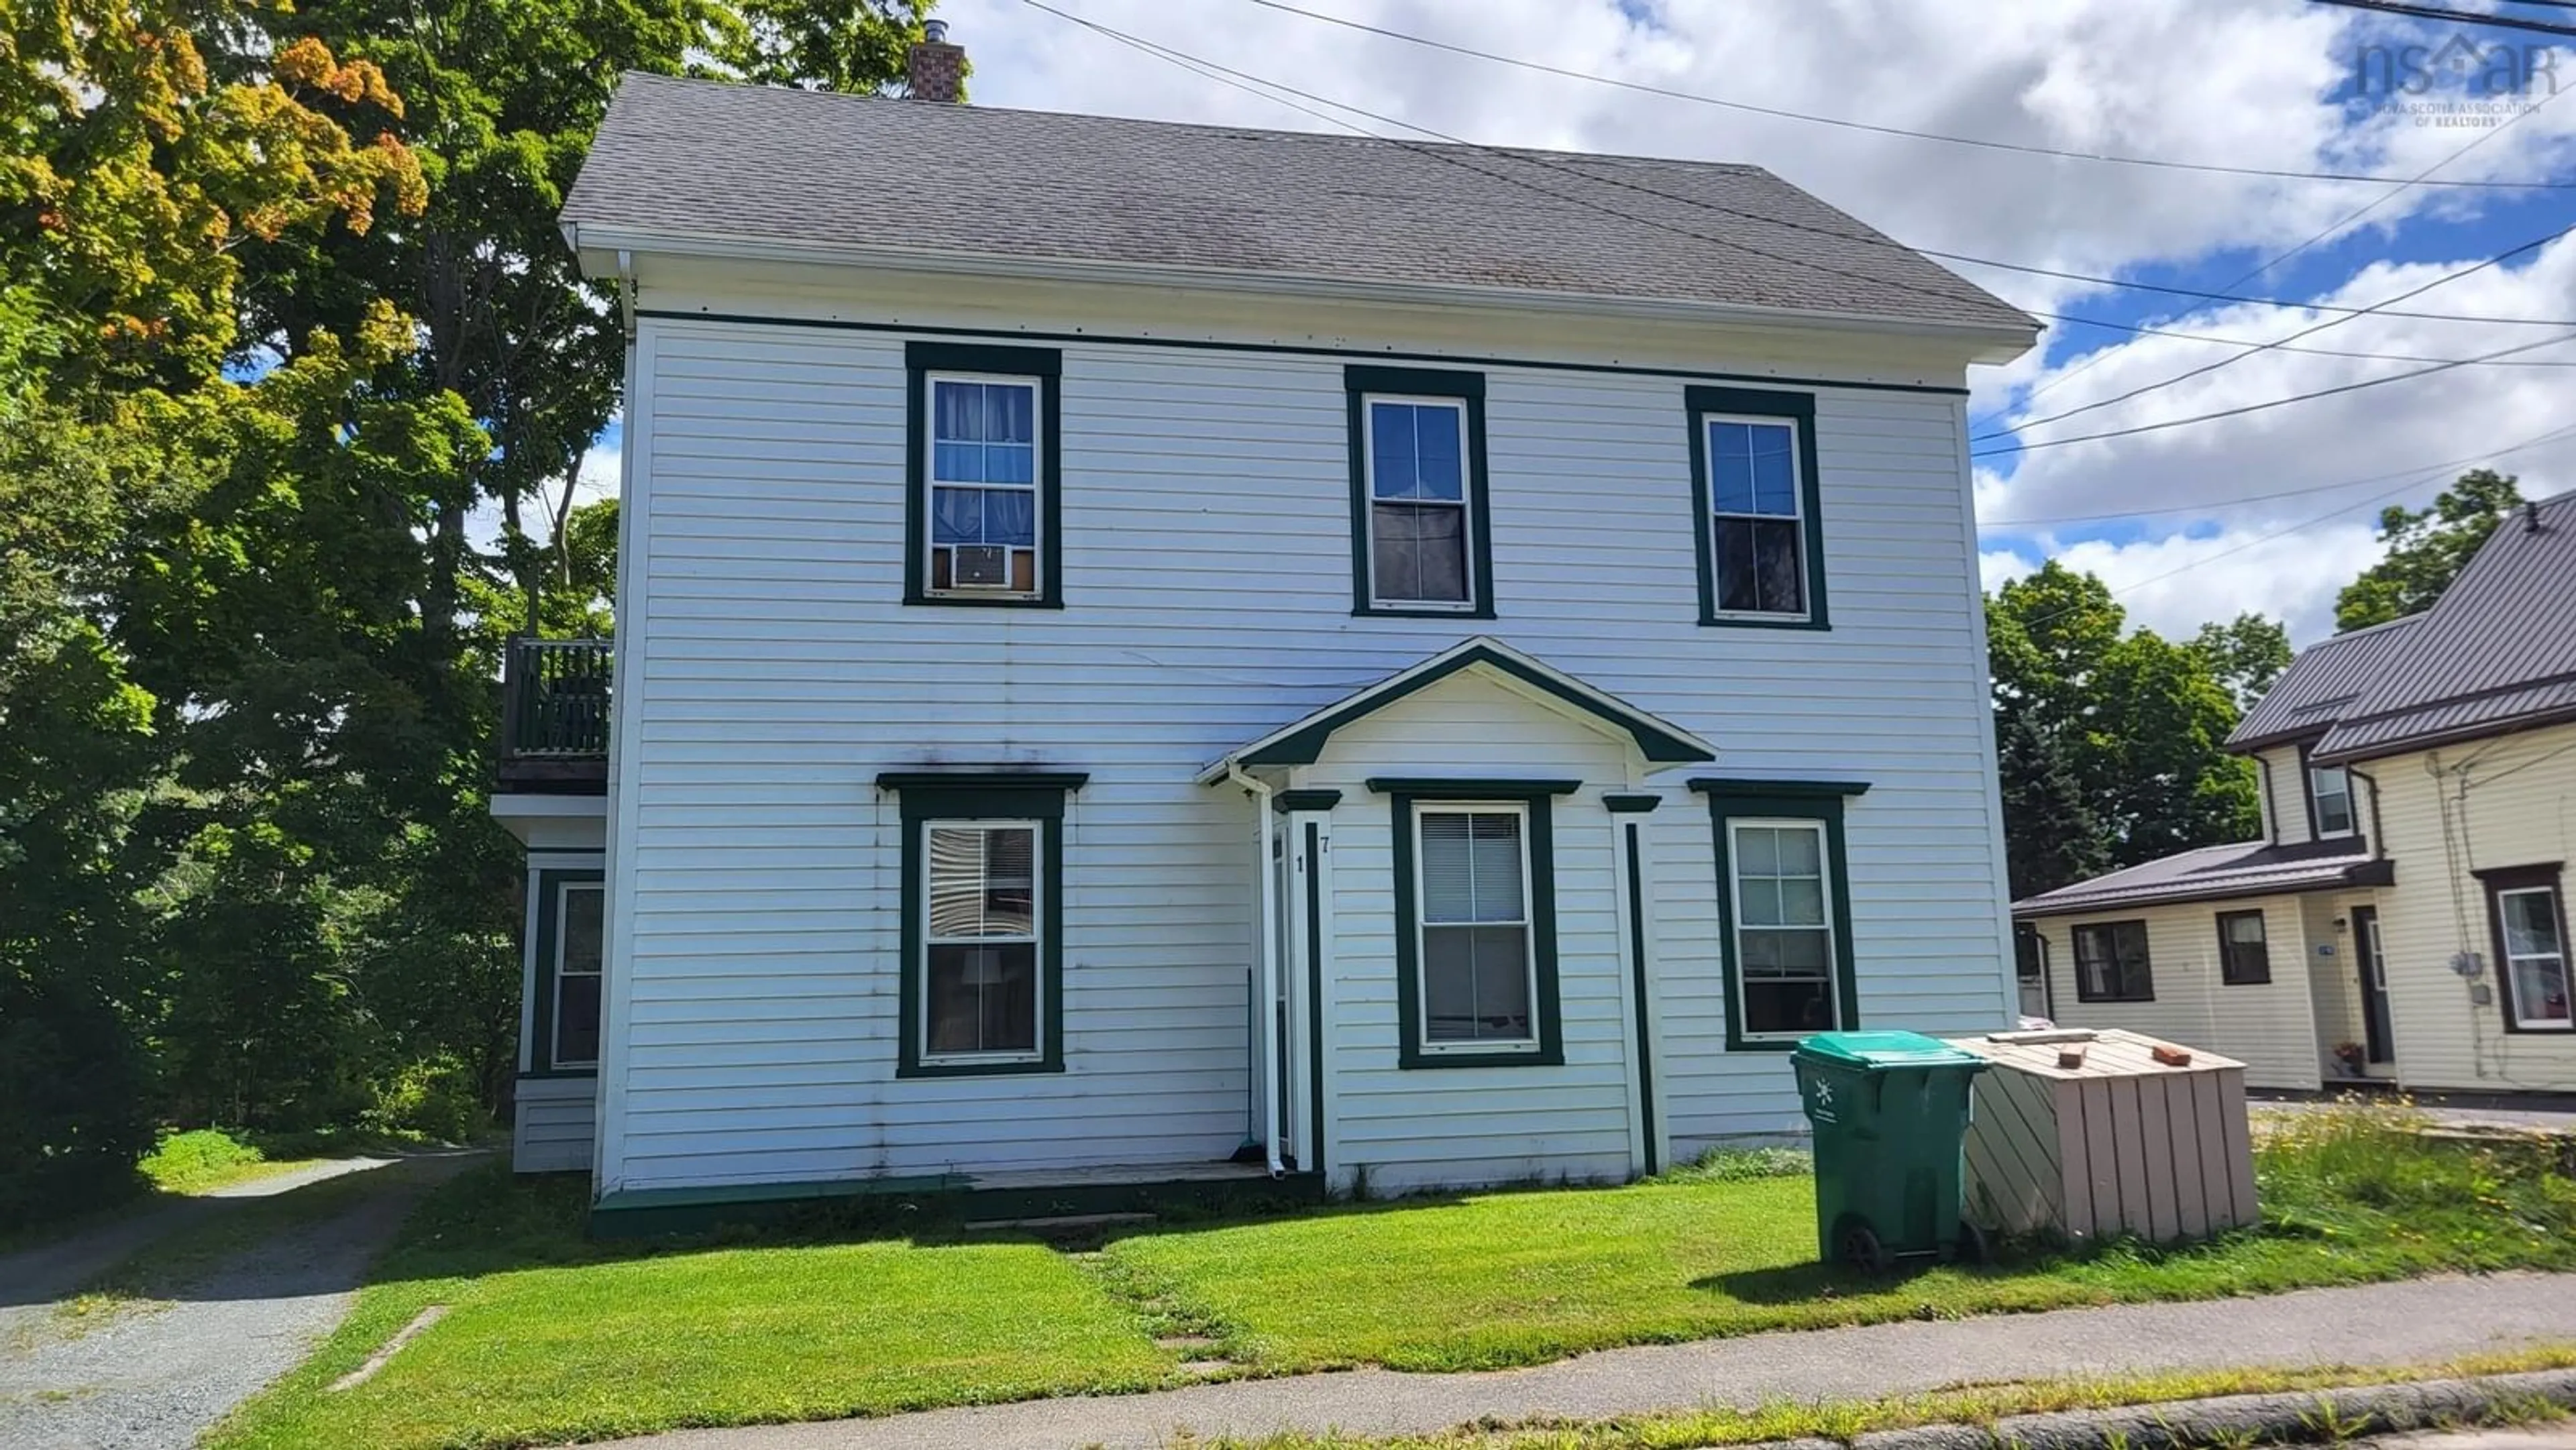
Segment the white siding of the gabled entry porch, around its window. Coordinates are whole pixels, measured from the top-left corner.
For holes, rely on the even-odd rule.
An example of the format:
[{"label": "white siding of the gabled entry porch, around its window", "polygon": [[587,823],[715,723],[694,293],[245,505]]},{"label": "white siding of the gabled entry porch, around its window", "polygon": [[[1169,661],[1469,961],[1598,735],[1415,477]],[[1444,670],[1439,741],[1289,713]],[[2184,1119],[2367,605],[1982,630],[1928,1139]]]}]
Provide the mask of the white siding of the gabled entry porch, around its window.
[{"label": "white siding of the gabled entry porch, around its window", "polygon": [[[1623,1180],[1631,1172],[1631,1007],[1602,791],[1631,783],[1633,747],[1463,672],[1352,721],[1298,786],[1342,791],[1332,811],[1332,932],[1324,1082],[1334,1180]],[[1373,775],[1582,780],[1548,804],[1556,858],[1556,976],[1564,1066],[1401,1069],[1396,1015],[1394,804]],[[1417,806],[1419,811],[1422,806]],[[1538,883],[1533,881],[1533,889]]]}]

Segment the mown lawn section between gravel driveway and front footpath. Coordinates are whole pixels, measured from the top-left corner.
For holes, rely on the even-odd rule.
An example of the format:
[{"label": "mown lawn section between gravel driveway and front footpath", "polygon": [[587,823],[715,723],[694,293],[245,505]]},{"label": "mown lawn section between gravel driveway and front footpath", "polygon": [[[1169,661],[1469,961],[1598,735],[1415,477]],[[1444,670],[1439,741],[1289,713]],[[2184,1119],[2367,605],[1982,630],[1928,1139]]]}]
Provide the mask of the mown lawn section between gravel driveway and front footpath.
[{"label": "mown lawn section between gravel driveway and front footpath", "polygon": [[[350,1321],[214,1445],[538,1445],[1146,1388],[1180,1362],[1043,1244],[639,1254],[585,1244],[580,1210],[577,1182],[446,1185]],[[327,1388],[430,1303],[448,1316],[376,1378]]]}]

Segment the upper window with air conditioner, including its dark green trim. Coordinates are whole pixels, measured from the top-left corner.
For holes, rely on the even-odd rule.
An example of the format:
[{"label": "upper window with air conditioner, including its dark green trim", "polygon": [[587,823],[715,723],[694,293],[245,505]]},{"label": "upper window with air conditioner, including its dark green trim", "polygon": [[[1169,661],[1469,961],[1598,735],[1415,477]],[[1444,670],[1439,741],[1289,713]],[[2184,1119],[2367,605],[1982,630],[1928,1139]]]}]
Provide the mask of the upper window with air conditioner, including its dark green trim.
[{"label": "upper window with air conditioner, including its dark green trim", "polygon": [[1056,379],[1041,348],[907,345],[907,600],[1061,603]]}]

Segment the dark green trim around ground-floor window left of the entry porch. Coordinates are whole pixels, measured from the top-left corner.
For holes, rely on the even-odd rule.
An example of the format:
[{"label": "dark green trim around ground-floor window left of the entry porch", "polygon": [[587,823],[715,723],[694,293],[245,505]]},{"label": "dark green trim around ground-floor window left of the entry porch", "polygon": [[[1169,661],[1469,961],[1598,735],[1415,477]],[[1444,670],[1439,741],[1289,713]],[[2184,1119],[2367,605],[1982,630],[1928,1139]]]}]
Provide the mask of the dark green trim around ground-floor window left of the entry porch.
[{"label": "dark green trim around ground-floor window left of the entry porch", "polygon": [[[1064,798],[1090,783],[1090,775],[1077,770],[994,770],[987,775],[963,770],[889,770],[878,775],[876,783],[881,791],[896,791],[902,796],[904,824],[904,958],[896,989],[902,1028],[896,1033],[899,1048],[894,1077],[1018,1077],[1033,1071],[1064,1071]],[[1030,1061],[925,1061],[925,834],[930,822],[979,819],[1038,822],[1038,1056]]]}]

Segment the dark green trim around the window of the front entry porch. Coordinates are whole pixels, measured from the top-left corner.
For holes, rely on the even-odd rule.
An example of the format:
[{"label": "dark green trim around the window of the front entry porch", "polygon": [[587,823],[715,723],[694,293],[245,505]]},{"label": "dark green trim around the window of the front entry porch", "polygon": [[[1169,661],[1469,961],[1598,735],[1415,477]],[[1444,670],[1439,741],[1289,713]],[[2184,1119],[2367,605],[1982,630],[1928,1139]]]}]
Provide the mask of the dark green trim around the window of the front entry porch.
[{"label": "dark green trim around the window of the front entry porch", "polygon": [[[1368,788],[1388,798],[1388,829],[1394,832],[1396,863],[1396,1066],[1399,1069],[1461,1069],[1461,1066],[1564,1066],[1566,1035],[1556,989],[1556,829],[1551,801],[1577,791],[1577,780],[1414,780],[1378,778]],[[1492,804],[1522,806],[1530,852],[1530,958],[1535,986],[1530,1015],[1538,1025],[1538,1048],[1520,1051],[1425,1051],[1422,1046],[1422,945],[1417,891],[1414,891],[1414,806],[1417,804]]]}]

